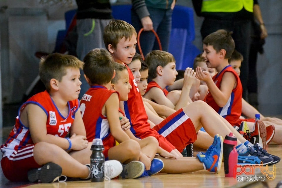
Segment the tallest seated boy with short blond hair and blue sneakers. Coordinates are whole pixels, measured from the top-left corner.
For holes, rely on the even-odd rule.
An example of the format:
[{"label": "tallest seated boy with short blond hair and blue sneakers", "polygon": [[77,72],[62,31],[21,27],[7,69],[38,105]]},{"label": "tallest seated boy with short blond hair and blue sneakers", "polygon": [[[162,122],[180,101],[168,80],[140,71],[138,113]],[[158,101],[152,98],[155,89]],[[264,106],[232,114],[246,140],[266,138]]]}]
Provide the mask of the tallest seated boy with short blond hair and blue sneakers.
[{"label": "tallest seated boy with short blond hair and blue sneakers", "polygon": [[[106,26],[104,38],[111,37],[109,36],[109,32],[107,30],[119,31],[128,27],[132,26],[125,21],[113,20],[108,24],[108,26]],[[134,30],[133,27],[132,30]],[[107,43],[106,47],[112,54],[115,62],[119,62],[122,65],[129,64],[131,62],[132,57],[135,54],[135,46],[137,43],[136,37],[137,36],[134,33],[131,38],[118,38],[117,41],[119,42],[117,43],[116,48],[114,48],[112,44]],[[266,157],[264,155],[261,155],[259,158],[256,152],[252,152],[251,154],[252,158],[255,160],[246,160],[249,158],[249,152],[251,151],[251,149],[248,150],[248,148],[242,144],[246,142],[246,140],[237,131],[235,131],[234,128],[226,120],[224,120],[224,118],[215,113],[206,103],[202,101],[195,101],[183,109],[178,110],[167,117],[159,125],[156,125],[154,129],[151,129],[150,124],[147,122],[148,117],[134,77],[130,69],[127,68],[127,70],[132,89],[130,90],[128,101],[125,102],[124,108],[125,114],[127,118],[130,119],[132,125],[132,133],[141,138],[154,136],[158,139],[160,147],[180,157],[177,160],[162,158],[164,162],[164,169],[161,172],[193,172],[203,169],[203,167],[209,171],[218,172],[222,163],[222,137],[217,135],[217,133],[225,136],[229,134],[230,131],[232,131],[238,138],[237,151],[239,152],[239,155],[243,155],[242,158],[244,157],[244,160],[238,160],[240,164],[259,164],[261,161],[263,161],[264,164],[269,164],[273,161],[271,157]],[[189,116],[187,114],[189,114]],[[210,124],[211,122],[213,125]],[[199,160],[189,157],[181,157],[182,155],[179,151],[182,151],[187,144],[194,142],[197,138],[196,130],[200,129],[200,124],[203,125],[206,130],[208,129],[211,135],[214,136],[213,145],[207,150],[208,155],[198,155]],[[173,145],[170,142],[173,143]],[[212,140],[210,142],[212,142]],[[177,150],[175,150],[176,147],[174,145],[177,147]],[[250,146],[250,148],[252,147]],[[242,150],[247,151],[243,153]],[[211,157],[214,155],[217,155],[216,160]]]}]

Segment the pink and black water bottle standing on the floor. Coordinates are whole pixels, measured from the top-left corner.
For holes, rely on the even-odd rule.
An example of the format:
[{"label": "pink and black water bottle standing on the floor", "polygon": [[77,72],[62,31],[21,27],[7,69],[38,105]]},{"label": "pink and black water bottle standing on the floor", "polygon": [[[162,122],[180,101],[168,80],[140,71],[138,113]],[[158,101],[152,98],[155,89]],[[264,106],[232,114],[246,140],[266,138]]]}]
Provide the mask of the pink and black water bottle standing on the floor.
[{"label": "pink and black water bottle standing on the floor", "polygon": [[235,146],[237,145],[237,138],[233,136],[232,132],[225,136],[223,141],[223,164],[225,177],[233,177],[234,167],[238,163],[238,154]]}]

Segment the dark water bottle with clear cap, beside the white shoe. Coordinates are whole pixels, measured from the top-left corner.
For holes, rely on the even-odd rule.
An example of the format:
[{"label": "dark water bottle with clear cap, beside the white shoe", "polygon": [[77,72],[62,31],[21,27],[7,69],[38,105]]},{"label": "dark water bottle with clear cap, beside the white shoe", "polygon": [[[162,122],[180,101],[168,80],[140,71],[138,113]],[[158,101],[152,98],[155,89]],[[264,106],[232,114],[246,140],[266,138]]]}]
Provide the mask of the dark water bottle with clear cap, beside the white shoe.
[{"label": "dark water bottle with clear cap, beside the white shoe", "polygon": [[105,173],[105,156],[103,142],[100,138],[93,139],[91,145],[92,155],[90,156],[90,171],[91,171],[91,182],[103,182]]}]

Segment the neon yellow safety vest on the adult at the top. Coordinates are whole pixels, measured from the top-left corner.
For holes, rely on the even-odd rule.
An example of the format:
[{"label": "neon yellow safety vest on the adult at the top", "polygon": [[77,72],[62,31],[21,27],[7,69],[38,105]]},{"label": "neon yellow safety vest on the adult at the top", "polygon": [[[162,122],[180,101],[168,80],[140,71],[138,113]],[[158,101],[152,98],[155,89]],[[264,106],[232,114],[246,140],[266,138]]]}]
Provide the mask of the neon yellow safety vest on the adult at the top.
[{"label": "neon yellow safety vest on the adult at the top", "polygon": [[203,0],[201,12],[253,12],[254,0]]}]

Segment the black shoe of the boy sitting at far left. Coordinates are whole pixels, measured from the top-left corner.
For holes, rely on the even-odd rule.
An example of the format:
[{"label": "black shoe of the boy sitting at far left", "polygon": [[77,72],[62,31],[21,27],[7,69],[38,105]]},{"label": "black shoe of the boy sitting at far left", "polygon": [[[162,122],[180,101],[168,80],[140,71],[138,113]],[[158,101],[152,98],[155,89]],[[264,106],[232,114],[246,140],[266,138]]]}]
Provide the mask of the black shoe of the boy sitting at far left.
[{"label": "black shoe of the boy sitting at far left", "polygon": [[28,171],[28,181],[42,183],[51,183],[56,181],[62,174],[62,167],[53,162],[44,164],[41,168],[31,169]]}]

